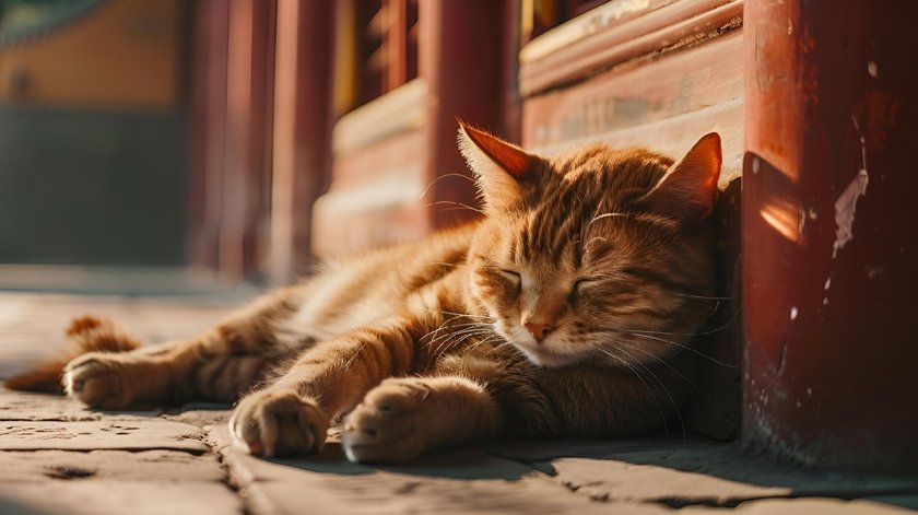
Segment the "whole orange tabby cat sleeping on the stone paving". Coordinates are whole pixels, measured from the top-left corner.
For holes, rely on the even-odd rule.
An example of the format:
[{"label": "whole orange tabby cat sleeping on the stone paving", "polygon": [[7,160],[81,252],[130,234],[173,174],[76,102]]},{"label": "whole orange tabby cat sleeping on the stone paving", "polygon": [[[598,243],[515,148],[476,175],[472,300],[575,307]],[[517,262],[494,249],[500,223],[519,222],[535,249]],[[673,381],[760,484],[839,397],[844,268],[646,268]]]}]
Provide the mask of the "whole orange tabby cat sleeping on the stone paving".
[{"label": "whole orange tabby cat sleeping on the stone paving", "polygon": [[120,409],[244,394],[231,430],[264,456],[316,452],[345,417],[354,461],[662,429],[710,312],[719,137],[678,162],[604,145],[541,157],[464,125],[459,145],[483,220],[328,266],[187,341],[139,348],[75,320],[68,395]]}]

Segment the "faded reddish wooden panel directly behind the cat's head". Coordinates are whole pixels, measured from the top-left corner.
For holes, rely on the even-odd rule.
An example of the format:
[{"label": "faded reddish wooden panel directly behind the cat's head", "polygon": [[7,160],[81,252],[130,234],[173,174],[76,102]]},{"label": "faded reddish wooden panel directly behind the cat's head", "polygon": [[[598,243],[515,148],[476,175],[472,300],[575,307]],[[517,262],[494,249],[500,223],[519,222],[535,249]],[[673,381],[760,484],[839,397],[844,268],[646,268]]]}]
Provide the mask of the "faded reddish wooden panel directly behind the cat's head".
[{"label": "faded reddish wooden panel directly behind the cat's head", "polygon": [[681,155],[719,131],[726,187],[742,168],[742,42],[732,34],[531,97],[523,104],[522,140],[546,152],[602,141]]}]

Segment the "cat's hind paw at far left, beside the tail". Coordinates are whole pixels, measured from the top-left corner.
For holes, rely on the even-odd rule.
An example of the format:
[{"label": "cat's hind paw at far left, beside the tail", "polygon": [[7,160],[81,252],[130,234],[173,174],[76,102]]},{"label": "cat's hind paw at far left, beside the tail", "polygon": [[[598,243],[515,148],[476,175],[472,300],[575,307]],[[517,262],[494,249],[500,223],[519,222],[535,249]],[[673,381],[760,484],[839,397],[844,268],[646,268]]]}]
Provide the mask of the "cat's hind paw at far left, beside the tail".
[{"label": "cat's hind paw at far left, beside the tail", "polygon": [[123,360],[115,354],[91,352],[67,364],[63,389],[67,395],[102,409],[127,408],[132,400]]}]

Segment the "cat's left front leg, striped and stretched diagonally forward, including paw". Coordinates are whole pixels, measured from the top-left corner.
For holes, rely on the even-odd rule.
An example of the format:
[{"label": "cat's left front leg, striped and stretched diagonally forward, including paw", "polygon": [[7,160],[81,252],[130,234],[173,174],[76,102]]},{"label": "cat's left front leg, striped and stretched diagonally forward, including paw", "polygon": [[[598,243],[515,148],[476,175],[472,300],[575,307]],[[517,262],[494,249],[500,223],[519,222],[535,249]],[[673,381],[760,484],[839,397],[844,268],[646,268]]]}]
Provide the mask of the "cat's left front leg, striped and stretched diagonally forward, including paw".
[{"label": "cat's left front leg, striped and stretched diagonally forward, including paw", "polygon": [[318,450],[334,417],[385,378],[417,368],[425,356],[415,342],[438,316],[396,316],[316,344],[274,384],[239,401],[233,435],[256,455]]}]

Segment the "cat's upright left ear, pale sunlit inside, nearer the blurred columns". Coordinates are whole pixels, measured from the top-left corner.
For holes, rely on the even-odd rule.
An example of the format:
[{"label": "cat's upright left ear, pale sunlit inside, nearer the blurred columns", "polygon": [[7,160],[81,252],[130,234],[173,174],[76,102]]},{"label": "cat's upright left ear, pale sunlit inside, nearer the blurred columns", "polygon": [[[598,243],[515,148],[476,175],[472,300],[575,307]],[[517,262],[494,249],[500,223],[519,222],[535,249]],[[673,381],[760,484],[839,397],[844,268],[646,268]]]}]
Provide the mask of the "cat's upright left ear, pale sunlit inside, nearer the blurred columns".
[{"label": "cat's upright left ear, pale sunlit inside, nearer the blurred columns", "polygon": [[519,147],[459,122],[459,151],[474,172],[485,209],[505,209],[522,198],[537,157]]}]

